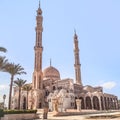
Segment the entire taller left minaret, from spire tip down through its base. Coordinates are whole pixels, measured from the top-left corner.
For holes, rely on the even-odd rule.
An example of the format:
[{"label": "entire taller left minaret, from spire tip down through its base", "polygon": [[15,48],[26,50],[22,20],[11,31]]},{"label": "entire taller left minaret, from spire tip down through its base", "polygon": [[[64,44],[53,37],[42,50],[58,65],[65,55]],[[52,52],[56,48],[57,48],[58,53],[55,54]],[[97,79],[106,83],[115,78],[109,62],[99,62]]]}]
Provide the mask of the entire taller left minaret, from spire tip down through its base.
[{"label": "entire taller left minaret, from spire tip down through its base", "polygon": [[[35,61],[34,61],[34,72],[33,72],[33,80],[32,80],[32,89],[33,89],[33,96],[34,96],[34,105],[33,108],[42,108],[44,104],[44,92],[43,92],[43,74],[42,74],[42,53],[43,53],[43,46],[42,46],[42,27],[43,16],[42,10],[40,8],[37,9],[36,15],[36,40],[35,40]],[[32,99],[33,99],[32,96]]]}]

